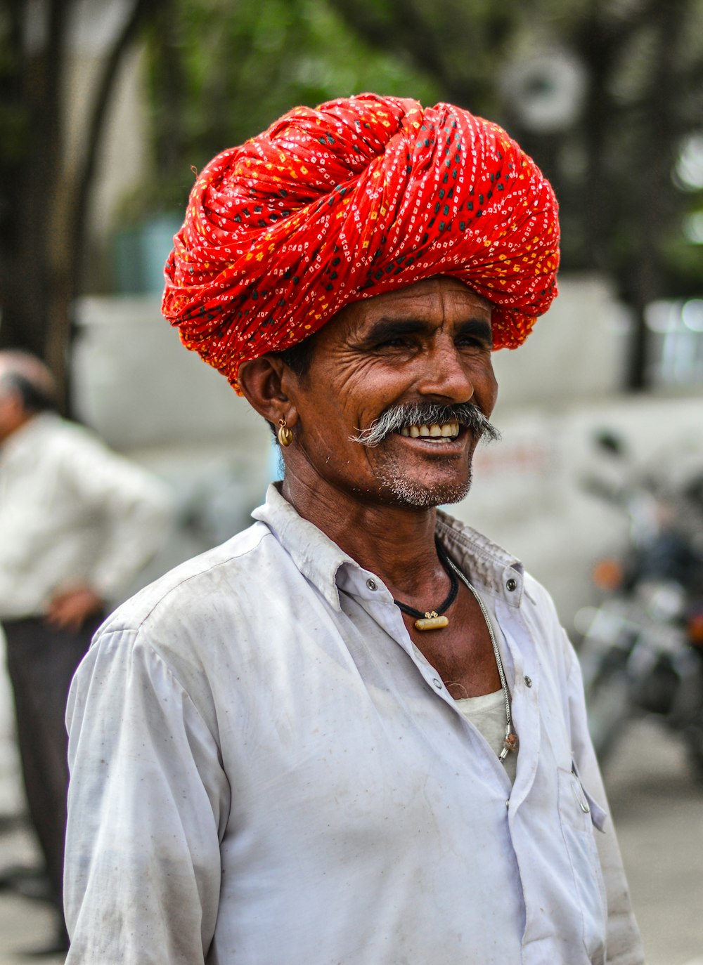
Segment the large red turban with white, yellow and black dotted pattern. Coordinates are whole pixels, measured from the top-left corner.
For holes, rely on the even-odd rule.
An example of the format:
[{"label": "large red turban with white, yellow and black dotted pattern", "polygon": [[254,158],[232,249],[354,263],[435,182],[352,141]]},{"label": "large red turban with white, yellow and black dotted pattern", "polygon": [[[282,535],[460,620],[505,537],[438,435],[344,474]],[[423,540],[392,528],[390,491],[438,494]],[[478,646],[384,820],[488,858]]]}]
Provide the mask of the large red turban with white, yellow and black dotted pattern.
[{"label": "large red turban with white, yellow and black dotted pattern", "polygon": [[296,107],[211,160],[162,311],[236,389],[243,360],[438,274],[491,301],[494,347],[516,347],[556,294],[558,240],[548,180],[501,127],[364,94]]}]

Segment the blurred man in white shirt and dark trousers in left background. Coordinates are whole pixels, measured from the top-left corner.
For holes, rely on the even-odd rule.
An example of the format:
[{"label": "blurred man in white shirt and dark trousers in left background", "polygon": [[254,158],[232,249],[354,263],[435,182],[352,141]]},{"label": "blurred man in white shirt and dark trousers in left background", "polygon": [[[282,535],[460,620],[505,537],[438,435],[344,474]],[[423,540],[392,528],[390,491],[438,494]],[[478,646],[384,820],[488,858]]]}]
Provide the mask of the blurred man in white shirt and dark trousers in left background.
[{"label": "blurred man in white shirt and dark trousers in left background", "polygon": [[[0,351],[0,623],[27,806],[57,910],[70,679],[170,520],[162,483],[59,416],[39,359]],[[57,945],[65,944],[62,917]]]}]

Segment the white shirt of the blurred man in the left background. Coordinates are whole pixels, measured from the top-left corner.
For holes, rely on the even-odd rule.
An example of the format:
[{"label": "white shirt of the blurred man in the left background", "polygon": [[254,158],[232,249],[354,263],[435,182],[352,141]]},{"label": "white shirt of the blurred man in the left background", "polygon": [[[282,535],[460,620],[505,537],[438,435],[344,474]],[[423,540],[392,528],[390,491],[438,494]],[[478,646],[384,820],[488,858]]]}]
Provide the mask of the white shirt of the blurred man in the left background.
[{"label": "white shirt of the blurred man in the left background", "polygon": [[165,487],[87,429],[37,415],[0,449],[0,619],[41,616],[61,589],[106,600],[154,554]]}]

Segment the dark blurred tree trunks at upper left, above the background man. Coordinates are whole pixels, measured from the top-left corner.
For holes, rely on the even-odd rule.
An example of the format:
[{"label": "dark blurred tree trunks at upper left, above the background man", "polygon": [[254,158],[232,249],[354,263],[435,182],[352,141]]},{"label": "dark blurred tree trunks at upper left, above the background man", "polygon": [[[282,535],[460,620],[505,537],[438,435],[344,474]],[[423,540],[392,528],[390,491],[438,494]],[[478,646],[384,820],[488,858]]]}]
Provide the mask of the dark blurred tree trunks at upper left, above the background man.
[{"label": "dark blurred tree trunks at upper left, above the background man", "polygon": [[45,46],[18,61],[30,138],[16,165],[17,189],[7,198],[12,229],[3,237],[0,258],[0,346],[25,348],[43,358],[65,409],[70,407],[71,313],[83,288],[86,226],[107,108],[127,50],[166,2],[133,0],[98,75],[83,154],[73,172],[62,165],[61,129],[70,0],[48,0]]}]

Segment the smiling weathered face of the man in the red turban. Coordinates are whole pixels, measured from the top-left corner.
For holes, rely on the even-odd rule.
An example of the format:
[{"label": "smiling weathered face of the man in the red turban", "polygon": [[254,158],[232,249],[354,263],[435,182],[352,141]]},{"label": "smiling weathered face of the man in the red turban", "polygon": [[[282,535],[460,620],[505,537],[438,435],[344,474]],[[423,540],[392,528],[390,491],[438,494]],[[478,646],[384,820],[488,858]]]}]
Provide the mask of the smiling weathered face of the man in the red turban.
[{"label": "smiling weathered face of the man in the red turban", "polygon": [[437,276],[348,305],[315,340],[309,372],[289,391],[304,456],[296,474],[316,491],[332,487],[360,503],[424,508],[462,499],[478,433],[452,415],[436,426],[404,416],[372,447],[354,437],[396,406],[422,413],[432,403],[468,402],[490,416],[497,391],[490,303]]}]

